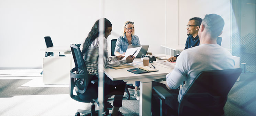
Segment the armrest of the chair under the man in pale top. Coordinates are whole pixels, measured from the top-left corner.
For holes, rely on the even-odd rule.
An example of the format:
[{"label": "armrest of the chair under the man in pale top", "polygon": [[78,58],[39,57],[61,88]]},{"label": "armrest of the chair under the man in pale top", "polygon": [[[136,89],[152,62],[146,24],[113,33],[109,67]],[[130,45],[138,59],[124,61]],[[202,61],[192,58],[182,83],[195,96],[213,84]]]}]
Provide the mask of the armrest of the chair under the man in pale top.
[{"label": "armrest of the chair under the man in pale top", "polygon": [[169,91],[167,91],[164,87],[162,86],[155,86],[153,89],[156,91],[156,93],[163,99],[171,99],[173,98],[172,95],[170,94]]}]

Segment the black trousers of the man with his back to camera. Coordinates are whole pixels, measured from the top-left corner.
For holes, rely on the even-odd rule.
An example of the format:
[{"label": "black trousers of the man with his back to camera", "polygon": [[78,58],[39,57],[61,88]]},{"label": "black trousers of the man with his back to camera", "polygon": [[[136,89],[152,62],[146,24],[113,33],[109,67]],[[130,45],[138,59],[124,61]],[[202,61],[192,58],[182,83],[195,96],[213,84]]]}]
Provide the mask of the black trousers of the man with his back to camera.
[{"label": "black trousers of the man with his back to camera", "polygon": [[[179,95],[179,89],[173,89],[169,90],[165,84],[163,83],[158,83],[158,82],[152,82],[152,88],[154,86],[162,86],[164,87],[167,91],[170,92],[172,95],[172,99],[170,100],[165,100],[165,108],[166,108],[166,113],[168,115],[178,115],[178,95]],[[155,90],[152,89],[152,102],[151,102],[151,111],[153,116],[159,116],[160,115],[160,100],[159,100],[159,95],[156,93]]]}]

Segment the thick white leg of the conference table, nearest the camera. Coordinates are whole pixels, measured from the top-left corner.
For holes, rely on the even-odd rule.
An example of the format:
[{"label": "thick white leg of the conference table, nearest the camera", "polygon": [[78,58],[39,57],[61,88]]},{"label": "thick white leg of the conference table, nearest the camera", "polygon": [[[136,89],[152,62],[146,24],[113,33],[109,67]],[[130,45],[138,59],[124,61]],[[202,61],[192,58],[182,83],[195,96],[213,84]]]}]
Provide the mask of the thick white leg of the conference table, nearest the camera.
[{"label": "thick white leg of the conference table, nearest the camera", "polygon": [[152,82],[140,82],[140,116],[151,116]]}]

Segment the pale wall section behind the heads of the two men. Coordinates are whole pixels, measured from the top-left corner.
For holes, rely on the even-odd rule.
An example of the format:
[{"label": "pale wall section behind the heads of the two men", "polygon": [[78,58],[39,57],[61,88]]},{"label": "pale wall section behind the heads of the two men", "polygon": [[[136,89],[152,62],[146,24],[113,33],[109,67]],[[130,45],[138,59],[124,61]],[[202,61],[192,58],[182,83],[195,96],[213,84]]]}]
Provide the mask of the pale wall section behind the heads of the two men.
[{"label": "pale wall section behind the heads of the two men", "polygon": [[179,0],[179,45],[185,45],[186,25],[190,18],[204,18],[206,14],[218,14],[225,21],[221,46],[230,48],[230,0]]}]

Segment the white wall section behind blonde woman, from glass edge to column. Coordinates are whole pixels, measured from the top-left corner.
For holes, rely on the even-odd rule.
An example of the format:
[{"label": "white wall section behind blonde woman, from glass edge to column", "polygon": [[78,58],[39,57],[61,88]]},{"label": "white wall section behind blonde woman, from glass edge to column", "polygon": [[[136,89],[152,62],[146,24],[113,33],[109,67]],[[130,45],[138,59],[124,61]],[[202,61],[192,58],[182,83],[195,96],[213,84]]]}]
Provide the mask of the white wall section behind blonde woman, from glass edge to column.
[{"label": "white wall section behind blonde woman, from glass edge to column", "polygon": [[134,22],[141,45],[149,45],[148,50],[153,54],[164,53],[160,45],[165,44],[165,0],[110,0],[105,4],[105,16],[113,25],[109,47],[110,40],[120,36],[124,22],[129,20]]}]

